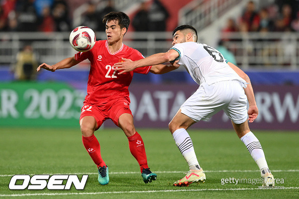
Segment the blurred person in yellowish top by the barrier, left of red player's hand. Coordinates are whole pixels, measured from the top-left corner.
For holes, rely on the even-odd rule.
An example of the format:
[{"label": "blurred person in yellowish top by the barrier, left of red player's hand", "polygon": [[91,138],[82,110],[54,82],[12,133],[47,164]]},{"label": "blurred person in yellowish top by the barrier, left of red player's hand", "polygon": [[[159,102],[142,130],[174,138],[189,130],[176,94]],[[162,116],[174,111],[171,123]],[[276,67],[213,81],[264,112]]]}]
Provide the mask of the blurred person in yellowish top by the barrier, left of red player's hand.
[{"label": "blurred person in yellowish top by the barrier, left of red player's hand", "polygon": [[16,80],[33,80],[36,77],[38,67],[37,55],[33,52],[31,45],[25,45],[17,55],[16,64],[12,66]]}]

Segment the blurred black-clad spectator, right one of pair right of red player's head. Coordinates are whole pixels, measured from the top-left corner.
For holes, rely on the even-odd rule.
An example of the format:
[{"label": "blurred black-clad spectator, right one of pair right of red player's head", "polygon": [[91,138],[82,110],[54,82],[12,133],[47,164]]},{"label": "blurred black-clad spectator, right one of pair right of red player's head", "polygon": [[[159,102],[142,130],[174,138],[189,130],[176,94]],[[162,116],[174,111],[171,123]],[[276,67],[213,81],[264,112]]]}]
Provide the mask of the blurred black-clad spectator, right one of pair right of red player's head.
[{"label": "blurred black-clad spectator, right one of pair right of red player's head", "polygon": [[154,0],[150,7],[150,31],[166,31],[169,12],[159,0]]}]

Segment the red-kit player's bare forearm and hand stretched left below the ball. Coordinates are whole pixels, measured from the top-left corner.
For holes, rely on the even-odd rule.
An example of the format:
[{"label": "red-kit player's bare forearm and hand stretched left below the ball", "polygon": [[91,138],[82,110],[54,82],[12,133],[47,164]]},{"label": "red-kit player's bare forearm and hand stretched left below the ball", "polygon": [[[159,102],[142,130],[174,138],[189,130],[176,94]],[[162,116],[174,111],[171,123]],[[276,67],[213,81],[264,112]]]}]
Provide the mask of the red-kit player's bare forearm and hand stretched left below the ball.
[{"label": "red-kit player's bare forearm and hand stretched left below the ball", "polygon": [[54,72],[57,69],[70,68],[80,62],[81,61],[77,61],[76,58],[73,56],[73,57],[65,58],[54,65],[42,63],[41,65],[38,66],[38,68],[36,70],[39,71],[41,68],[43,68],[43,69]]}]

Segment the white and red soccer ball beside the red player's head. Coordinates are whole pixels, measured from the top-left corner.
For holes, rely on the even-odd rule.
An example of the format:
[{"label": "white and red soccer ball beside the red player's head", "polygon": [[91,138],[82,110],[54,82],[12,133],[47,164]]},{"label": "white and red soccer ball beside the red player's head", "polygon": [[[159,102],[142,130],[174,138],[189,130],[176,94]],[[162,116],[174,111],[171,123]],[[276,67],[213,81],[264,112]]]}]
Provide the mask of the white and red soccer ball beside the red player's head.
[{"label": "white and red soccer ball beside the red player's head", "polygon": [[79,52],[87,52],[96,43],[95,32],[87,26],[79,26],[71,31],[69,43],[73,49]]}]

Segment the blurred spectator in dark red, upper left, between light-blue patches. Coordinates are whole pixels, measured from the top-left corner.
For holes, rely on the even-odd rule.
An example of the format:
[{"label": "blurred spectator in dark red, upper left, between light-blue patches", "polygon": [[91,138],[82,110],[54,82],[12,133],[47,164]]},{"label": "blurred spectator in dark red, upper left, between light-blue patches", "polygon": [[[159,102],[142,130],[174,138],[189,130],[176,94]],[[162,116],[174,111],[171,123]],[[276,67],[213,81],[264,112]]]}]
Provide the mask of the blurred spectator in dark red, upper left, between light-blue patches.
[{"label": "blurred spectator in dark red, upper left, between light-blue patches", "polygon": [[53,32],[56,31],[56,24],[53,16],[51,15],[50,7],[43,8],[42,16],[40,19],[39,31],[41,32]]}]

